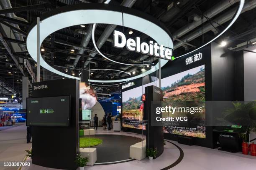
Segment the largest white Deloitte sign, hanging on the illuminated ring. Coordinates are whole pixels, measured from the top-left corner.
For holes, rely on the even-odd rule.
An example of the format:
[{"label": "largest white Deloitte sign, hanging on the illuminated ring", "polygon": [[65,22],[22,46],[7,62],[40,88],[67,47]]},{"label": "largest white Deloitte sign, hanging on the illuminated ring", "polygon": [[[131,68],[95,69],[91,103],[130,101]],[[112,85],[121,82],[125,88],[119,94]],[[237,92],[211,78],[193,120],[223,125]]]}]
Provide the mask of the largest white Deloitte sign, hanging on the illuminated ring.
[{"label": "largest white Deloitte sign, hanging on the illuminated ring", "polygon": [[[121,41],[119,42],[119,38]],[[149,44],[146,42],[141,43],[141,38],[136,37],[135,40],[128,38],[126,40],[123,32],[114,31],[114,47],[123,48],[126,47],[129,51],[141,52],[142,54],[154,55],[155,57],[162,57],[165,59],[172,59],[172,49],[166,48],[163,45],[158,45],[157,42],[149,41]]]}]

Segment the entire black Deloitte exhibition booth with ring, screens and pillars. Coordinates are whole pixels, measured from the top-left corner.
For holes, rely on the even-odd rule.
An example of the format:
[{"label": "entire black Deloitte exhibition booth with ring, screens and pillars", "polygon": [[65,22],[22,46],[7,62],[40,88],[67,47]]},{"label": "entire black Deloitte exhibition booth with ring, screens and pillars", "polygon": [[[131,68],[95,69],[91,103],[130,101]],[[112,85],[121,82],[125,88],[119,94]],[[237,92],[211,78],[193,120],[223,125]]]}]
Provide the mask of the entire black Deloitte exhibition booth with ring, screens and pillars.
[{"label": "entire black Deloitte exhibition booth with ring, screens and pillars", "polygon": [[[72,20],[63,23],[60,17]],[[87,166],[130,161],[141,165],[148,163],[145,158],[149,157],[156,161],[154,168],[167,170],[178,165],[184,156],[172,141],[233,153],[243,150],[243,141],[253,141],[247,128],[252,124],[237,120],[239,117],[227,109],[233,108],[236,101],[243,101],[239,106],[244,106],[248,104],[244,101],[255,100],[251,92],[255,78],[247,74],[254,72],[250,70],[254,67],[245,66],[255,60],[251,53],[231,52],[209,42],[174,57],[172,35],[162,23],[137,10],[107,4],[60,7],[42,16],[40,22],[40,43],[52,32],[71,25],[93,23],[94,44],[95,23],[133,28],[152,37],[152,41],[140,42],[140,37],[126,41],[125,35],[115,30],[113,46],[158,60],[143,60],[137,65],[147,70],[124,79],[92,79],[90,66],[81,71],[80,77],[67,75],[49,65],[41,55],[36,56],[38,25],[34,23],[27,37],[32,58],[40,57],[41,66],[70,79],[32,85],[32,96],[26,102],[26,125],[32,129],[33,164],[76,170],[84,162]],[[53,22],[59,24],[49,27]],[[97,45],[95,50],[106,60],[117,62],[100,52]],[[121,92],[98,100],[95,83],[118,85]],[[221,114],[224,111],[226,114]],[[254,121],[253,112],[250,113]],[[254,153],[254,144],[251,152]],[[157,163],[160,160],[162,164]]]}]

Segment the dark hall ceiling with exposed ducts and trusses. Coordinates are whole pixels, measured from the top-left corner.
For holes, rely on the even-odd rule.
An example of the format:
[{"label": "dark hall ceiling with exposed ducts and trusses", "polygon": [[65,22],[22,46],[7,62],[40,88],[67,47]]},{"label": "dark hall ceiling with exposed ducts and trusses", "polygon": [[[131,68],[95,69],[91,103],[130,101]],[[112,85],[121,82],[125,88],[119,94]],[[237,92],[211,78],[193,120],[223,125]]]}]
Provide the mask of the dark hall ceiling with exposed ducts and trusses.
[{"label": "dark hall ceiling with exposed ducts and trusses", "polygon": [[[19,93],[22,76],[30,83],[36,79],[36,63],[26,49],[26,36],[31,23],[37,17],[56,8],[79,3],[103,3],[105,0],[1,0],[0,1],[0,96]],[[239,0],[111,0],[112,5],[121,5],[140,10],[157,18],[172,33],[173,55],[183,55],[200,47],[218,35],[236,13]],[[230,50],[246,49],[256,42],[256,0],[246,0],[243,11],[234,25],[220,38],[227,42]],[[65,18],[63,18],[65,22]],[[152,40],[148,35],[117,25],[97,24],[95,40],[98,48],[112,60],[136,63],[156,63],[158,58],[113,47],[113,31],[119,30],[126,37],[141,37]],[[36,42],[35,42],[36,43]],[[43,50],[42,50],[43,49]],[[141,74],[150,66],[121,65],[106,60],[95,50],[92,43],[92,24],[74,25],[53,32],[41,46],[44,60],[69,75],[78,76],[81,70],[92,70],[90,77],[97,80],[115,80]],[[124,72],[130,72],[131,75]],[[41,67],[41,81],[66,78]],[[95,83],[98,93],[119,92],[120,85]],[[104,95],[100,95],[104,97]]]}]

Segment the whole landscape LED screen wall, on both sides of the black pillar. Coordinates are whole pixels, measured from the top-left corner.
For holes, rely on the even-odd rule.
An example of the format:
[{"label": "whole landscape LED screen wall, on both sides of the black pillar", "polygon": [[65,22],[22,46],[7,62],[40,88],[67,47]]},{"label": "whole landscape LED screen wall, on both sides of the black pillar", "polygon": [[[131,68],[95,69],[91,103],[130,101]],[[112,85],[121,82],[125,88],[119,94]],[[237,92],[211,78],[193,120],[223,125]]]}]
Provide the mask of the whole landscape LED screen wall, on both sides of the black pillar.
[{"label": "whole landscape LED screen wall, on both sides of the black pillar", "polygon": [[[122,92],[124,127],[145,129],[145,126],[141,124],[143,120],[142,100],[145,87],[149,85],[155,85],[155,83],[148,83]],[[161,89],[165,105],[172,105],[178,101],[183,101],[183,103],[192,101],[195,104],[201,104],[205,101],[205,65],[161,79]],[[205,138],[205,109],[200,114],[193,116],[193,119],[197,119],[193,130],[170,125],[164,126],[164,133]]]}]

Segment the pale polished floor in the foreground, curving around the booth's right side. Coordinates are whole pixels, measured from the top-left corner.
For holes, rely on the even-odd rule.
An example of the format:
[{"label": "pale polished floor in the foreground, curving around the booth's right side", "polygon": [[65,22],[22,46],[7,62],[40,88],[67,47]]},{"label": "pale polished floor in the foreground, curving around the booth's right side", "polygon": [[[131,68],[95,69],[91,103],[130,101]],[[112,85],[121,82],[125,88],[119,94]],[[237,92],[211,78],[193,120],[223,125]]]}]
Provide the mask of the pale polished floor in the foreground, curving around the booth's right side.
[{"label": "pale polished floor in the foreground, curving around the booth's right side", "polygon": [[[117,133],[113,131],[97,130],[96,135],[132,135],[142,137],[142,135],[133,133]],[[133,160],[125,163],[111,165],[88,166],[86,170],[256,170],[256,157],[243,155],[242,153],[228,153],[217,149],[204,148],[200,146],[182,145],[174,141],[167,142],[164,146],[164,153],[155,160],[138,161]],[[180,158],[180,150],[184,153],[182,160],[175,166],[167,168],[177,163]],[[30,161],[31,160],[27,160]],[[23,167],[22,170],[56,170],[44,168],[38,165]]]}]

